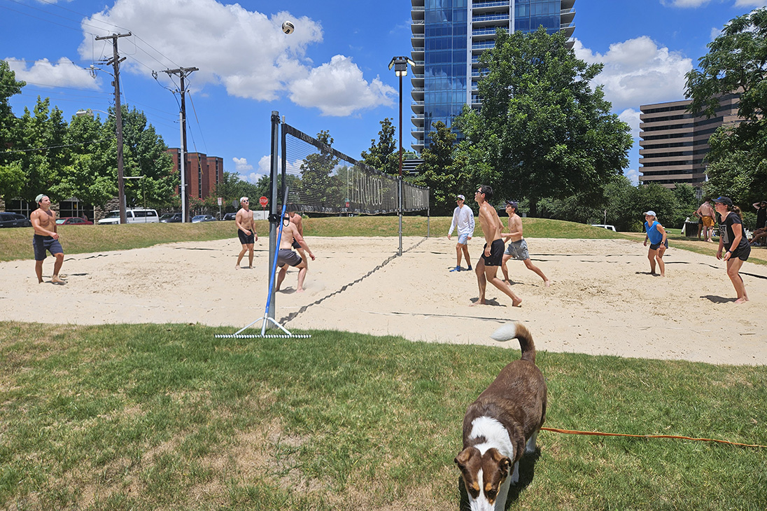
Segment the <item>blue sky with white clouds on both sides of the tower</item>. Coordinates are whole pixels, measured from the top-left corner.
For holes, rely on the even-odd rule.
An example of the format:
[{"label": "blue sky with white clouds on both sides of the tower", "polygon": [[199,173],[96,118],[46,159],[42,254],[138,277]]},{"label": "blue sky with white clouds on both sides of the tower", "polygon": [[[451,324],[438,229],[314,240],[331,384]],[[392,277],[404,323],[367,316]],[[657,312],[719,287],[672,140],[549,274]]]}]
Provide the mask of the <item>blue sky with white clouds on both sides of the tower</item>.
[{"label": "blue sky with white clouds on both sides of the tower", "polygon": [[[597,77],[635,143],[624,173],[637,181],[639,106],[678,101],[684,74],[732,18],[767,0],[576,0],[575,51],[603,62]],[[110,41],[120,38],[123,102],[146,113],[179,146],[178,87],[162,71],[199,68],[187,78],[188,148],[222,157],[254,181],[268,171],[269,116],[278,110],[308,134],[329,130],[351,157],[377,138],[379,121],[399,122],[398,81],[387,65],[410,55],[410,1],[337,0],[0,0],[0,58],[28,82],[16,115],[38,95],[70,118],[114,103]],[[284,20],[296,30],[285,35]],[[94,64],[96,78],[88,68]],[[160,74],[153,78],[152,71]],[[403,81],[403,147],[410,147],[410,80]],[[98,112],[97,112],[98,114]],[[104,117],[104,114],[101,114]]]}]

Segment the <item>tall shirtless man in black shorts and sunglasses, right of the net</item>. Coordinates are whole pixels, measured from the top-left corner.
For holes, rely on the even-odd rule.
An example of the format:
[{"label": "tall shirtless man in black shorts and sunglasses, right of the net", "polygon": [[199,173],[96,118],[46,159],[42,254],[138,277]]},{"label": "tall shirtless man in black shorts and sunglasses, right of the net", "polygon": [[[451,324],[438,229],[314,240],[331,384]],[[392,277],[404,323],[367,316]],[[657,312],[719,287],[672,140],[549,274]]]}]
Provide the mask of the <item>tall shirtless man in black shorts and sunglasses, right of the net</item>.
[{"label": "tall shirtless man in black shorts and sunglasses, right of the net", "polygon": [[482,233],[485,235],[485,252],[479,258],[475,270],[479,285],[479,300],[473,305],[485,305],[485,288],[487,282],[490,282],[509,298],[512,298],[514,307],[519,307],[522,305],[522,298],[515,295],[508,284],[495,276],[503,256],[503,240],[501,239],[503,224],[495,208],[488,203],[489,199],[492,199],[492,188],[487,185],[479,186],[479,190],[474,194],[474,199],[479,204],[479,225],[482,226]]}]

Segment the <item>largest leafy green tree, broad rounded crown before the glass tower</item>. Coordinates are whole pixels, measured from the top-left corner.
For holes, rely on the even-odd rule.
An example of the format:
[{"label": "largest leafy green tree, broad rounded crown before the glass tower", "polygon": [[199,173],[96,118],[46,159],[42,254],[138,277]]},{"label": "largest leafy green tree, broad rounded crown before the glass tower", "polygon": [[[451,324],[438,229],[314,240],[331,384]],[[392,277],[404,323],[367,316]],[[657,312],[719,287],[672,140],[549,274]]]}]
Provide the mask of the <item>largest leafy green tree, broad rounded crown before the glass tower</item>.
[{"label": "largest leafy green tree, broad rounded crown before the glass tower", "polygon": [[567,48],[564,33],[544,28],[509,35],[482,54],[482,108],[464,107],[456,127],[487,165],[479,176],[496,196],[524,196],[533,216],[538,200],[583,194],[599,203],[604,187],[627,165],[630,128],[610,114],[588,65]]}]

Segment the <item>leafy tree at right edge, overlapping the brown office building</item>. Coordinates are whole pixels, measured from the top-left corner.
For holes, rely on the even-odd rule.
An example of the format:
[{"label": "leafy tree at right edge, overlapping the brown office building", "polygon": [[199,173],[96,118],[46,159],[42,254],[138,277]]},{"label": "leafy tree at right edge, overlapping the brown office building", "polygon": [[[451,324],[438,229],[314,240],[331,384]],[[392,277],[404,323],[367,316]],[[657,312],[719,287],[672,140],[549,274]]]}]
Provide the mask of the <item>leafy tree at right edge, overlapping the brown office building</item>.
[{"label": "leafy tree at right edge, overlapping the brown office building", "polygon": [[720,127],[706,155],[709,193],[752,203],[767,194],[767,8],[735,18],[687,73],[693,114],[713,116],[724,94],[739,94],[736,126]]}]

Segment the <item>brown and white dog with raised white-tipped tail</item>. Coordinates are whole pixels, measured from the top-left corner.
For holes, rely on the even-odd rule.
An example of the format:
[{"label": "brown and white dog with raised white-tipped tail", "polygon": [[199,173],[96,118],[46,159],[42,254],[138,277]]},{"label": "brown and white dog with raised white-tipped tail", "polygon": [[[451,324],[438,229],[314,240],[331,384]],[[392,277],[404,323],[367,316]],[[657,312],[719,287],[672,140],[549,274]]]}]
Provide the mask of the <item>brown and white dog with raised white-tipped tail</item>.
[{"label": "brown and white dog with raised white-tipped tail", "polygon": [[[496,341],[519,340],[522,359],[502,369],[463,417],[463,450],[454,460],[472,511],[502,511],[510,483],[519,480],[519,459],[535,451],[546,418],[546,382],[535,365],[530,331],[520,323],[496,330]],[[509,470],[514,465],[514,473]]]}]

